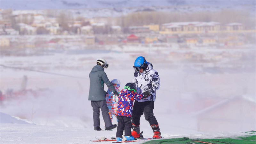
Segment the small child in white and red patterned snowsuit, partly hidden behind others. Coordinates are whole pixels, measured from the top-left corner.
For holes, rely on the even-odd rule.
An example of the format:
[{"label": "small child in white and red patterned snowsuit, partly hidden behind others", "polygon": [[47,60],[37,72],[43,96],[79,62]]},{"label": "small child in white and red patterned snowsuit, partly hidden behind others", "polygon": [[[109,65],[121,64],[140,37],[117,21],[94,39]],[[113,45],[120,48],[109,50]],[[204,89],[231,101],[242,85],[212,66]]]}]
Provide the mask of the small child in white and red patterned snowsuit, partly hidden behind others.
[{"label": "small child in white and red patterned snowsuit, partly hidden behind others", "polygon": [[[116,92],[119,93],[120,92],[119,87],[121,84],[120,81],[118,79],[113,79],[111,81],[111,83],[115,87]],[[106,101],[107,101],[107,106],[108,106],[108,114],[109,114],[111,122],[112,122],[113,115],[116,117],[116,108],[117,108],[118,97],[116,97],[116,95],[111,90],[108,89],[108,91],[106,93]],[[117,120],[117,122],[118,122],[118,120]]]}]

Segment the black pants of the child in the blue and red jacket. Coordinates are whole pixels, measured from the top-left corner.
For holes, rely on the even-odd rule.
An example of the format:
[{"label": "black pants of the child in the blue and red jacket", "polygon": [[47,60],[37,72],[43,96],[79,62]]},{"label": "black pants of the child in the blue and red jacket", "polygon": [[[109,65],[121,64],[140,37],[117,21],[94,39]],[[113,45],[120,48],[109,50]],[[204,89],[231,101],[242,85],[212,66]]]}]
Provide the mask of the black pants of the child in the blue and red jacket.
[{"label": "black pants of the child in the blue and red jacket", "polygon": [[116,116],[116,117],[118,119],[116,137],[122,138],[122,135],[131,136],[132,135],[131,117],[126,117],[126,116]]}]

